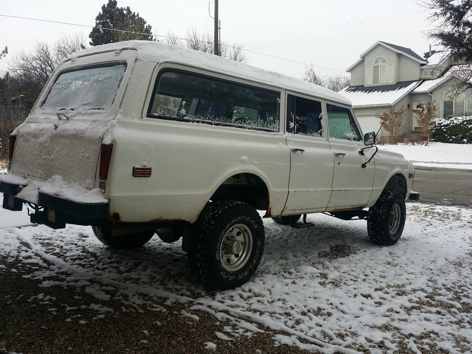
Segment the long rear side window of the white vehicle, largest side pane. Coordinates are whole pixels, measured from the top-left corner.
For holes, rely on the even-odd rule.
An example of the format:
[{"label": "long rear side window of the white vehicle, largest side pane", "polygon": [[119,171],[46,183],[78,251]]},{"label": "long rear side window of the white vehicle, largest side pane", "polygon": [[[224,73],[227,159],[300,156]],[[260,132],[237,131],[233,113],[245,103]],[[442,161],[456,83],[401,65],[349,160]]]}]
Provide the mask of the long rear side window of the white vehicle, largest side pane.
[{"label": "long rear side window of the white vehicle, largest side pane", "polygon": [[147,117],[278,131],[280,93],[183,70],[162,71]]}]

